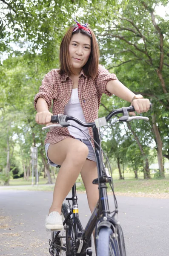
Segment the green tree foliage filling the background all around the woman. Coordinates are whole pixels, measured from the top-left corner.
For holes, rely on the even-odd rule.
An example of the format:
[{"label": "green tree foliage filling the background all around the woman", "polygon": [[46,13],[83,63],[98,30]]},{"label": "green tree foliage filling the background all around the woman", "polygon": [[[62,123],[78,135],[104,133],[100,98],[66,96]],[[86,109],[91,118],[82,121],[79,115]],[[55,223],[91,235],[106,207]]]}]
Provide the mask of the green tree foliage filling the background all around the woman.
[{"label": "green tree foliage filling the background all around the woman", "polygon": [[[151,118],[152,113],[156,113],[163,155],[169,157],[169,19],[154,12],[155,5],[165,6],[167,3],[166,0],[6,0],[6,3],[0,0],[3,15],[0,20],[0,54],[8,56],[3,58],[0,66],[1,175],[6,166],[9,120],[11,166],[22,173],[23,160],[27,168],[31,159],[30,148],[34,145],[44,154],[46,134],[35,123],[33,99],[44,75],[59,67],[60,41],[74,16],[81,23],[87,21],[95,31],[100,46],[100,63],[115,72],[130,90],[142,93],[153,103],[153,112],[142,114],[148,116],[150,122],[130,123],[146,156],[150,161],[157,159],[155,153],[152,155],[155,136]],[[153,14],[160,32],[152,22]],[[163,48],[160,48],[160,35],[163,35]],[[100,116],[129,105],[115,96],[108,98],[105,95],[102,104]],[[125,168],[143,170],[143,155],[127,126],[111,126],[104,136],[103,149],[111,160],[120,158],[120,164]],[[40,154],[38,164],[42,166]]]}]

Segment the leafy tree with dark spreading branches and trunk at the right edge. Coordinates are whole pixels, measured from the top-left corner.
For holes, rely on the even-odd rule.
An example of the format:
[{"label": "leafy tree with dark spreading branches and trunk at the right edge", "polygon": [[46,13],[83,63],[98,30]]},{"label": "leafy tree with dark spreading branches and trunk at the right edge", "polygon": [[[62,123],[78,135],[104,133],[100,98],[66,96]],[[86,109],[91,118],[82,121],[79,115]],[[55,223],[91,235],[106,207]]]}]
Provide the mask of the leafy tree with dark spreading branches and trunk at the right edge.
[{"label": "leafy tree with dark spreading branches and trunk at the right edge", "polygon": [[[122,9],[112,12],[108,6],[106,17],[100,18],[96,25],[102,63],[116,72],[117,77],[134,93],[150,98],[156,106],[153,108],[155,114],[161,108],[164,110],[162,113],[169,109],[169,20],[155,15],[155,5],[160,3],[165,6],[168,1],[154,0],[149,3],[135,0],[129,1],[126,6],[122,1]],[[104,26],[101,26],[103,20]],[[159,139],[163,121],[158,114],[153,120],[160,173],[164,176],[163,142]],[[168,123],[166,115],[165,122]],[[166,156],[167,152],[163,155]]]}]

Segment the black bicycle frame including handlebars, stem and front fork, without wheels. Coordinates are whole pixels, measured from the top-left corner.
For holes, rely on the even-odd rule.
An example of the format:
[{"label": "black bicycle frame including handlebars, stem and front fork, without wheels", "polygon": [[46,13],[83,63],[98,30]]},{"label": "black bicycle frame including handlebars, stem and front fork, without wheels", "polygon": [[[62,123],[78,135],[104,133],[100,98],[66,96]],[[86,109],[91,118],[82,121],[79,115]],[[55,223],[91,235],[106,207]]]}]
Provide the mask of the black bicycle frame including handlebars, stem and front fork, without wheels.
[{"label": "black bicycle frame including handlebars, stem and front fork, without wheels", "polygon": [[[111,117],[117,113],[123,113],[123,116],[119,118],[119,120],[122,122],[129,121],[130,119],[138,118],[138,116],[129,117],[128,111],[132,112],[132,111],[135,111],[135,109],[133,108],[133,106],[130,106],[127,108],[121,108],[121,109],[112,111],[111,113],[109,113],[108,116],[106,116],[106,121],[109,121],[109,119],[111,119]],[[148,120],[148,118],[146,118],[146,117],[139,117],[139,119]],[[74,118],[73,116],[66,117],[63,114],[59,114],[57,116],[52,116],[52,118],[51,118],[51,122],[59,122],[60,127],[69,126],[69,124],[67,123],[67,120],[76,120],[77,123],[79,123],[83,126],[92,127],[94,141],[95,141],[95,154],[96,154],[98,178],[93,180],[93,184],[99,185],[99,200],[96,204],[96,207],[95,207],[91,217],[89,218],[89,221],[88,221],[85,229],[83,230],[83,227],[80,223],[79,215],[78,215],[76,185],[74,184],[74,186],[72,187],[72,198],[66,198],[66,200],[68,200],[68,202],[69,202],[69,200],[72,200],[72,207],[70,207],[70,203],[69,203],[70,212],[69,212],[69,214],[67,214],[68,209],[66,209],[66,207],[68,207],[68,206],[66,206],[66,204],[65,204],[66,218],[65,218],[65,221],[63,222],[63,225],[65,223],[67,223],[67,221],[70,222],[69,218],[72,219],[71,215],[73,214],[73,224],[74,225],[72,225],[72,226],[73,226],[73,233],[74,233],[74,238],[75,238],[74,243],[76,245],[77,254],[81,255],[81,256],[85,256],[86,249],[88,247],[91,247],[91,244],[90,244],[91,236],[92,236],[92,232],[95,229],[95,227],[96,227],[95,238],[97,238],[97,234],[99,232],[100,227],[104,226],[104,227],[112,228],[112,230],[114,232],[113,236],[115,239],[117,239],[118,227],[120,227],[120,223],[118,221],[116,221],[114,218],[115,214],[117,213],[117,209],[113,215],[110,214],[109,202],[108,202],[108,196],[107,196],[107,186],[106,186],[106,183],[109,181],[109,178],[105,177],[105,175],[104,175],[104,166],[103,166],[103,161],[101,160],[102,156],[100,156],[100,147],[99,147],[100,137],[99,137],[97,128],[105,125],[105,119],[103,119],[103,125],[97,126],[96,122],[86,124],[84,122],[81,122],[79,119]],[[102,120],[101,120],[101,122],[102,122]],[[49,127],[52,127],[52,125],[50,125]],[[72,235],[71,228],[72,227],[70,227],[70,228],[66,227],[66,229],[68,229],[68,233],[69,233],[68,235],[70,237]],[[120,232],[122,232],[122,230]],[[57,232],[56,236],[58,236],[59,233],[60,233],[60,231]],[[120,235],[120,233],[119,233],[119,235]],[[121,235],[123,236],[123,233]],[[120,243],[121,242],[123,243],[123,238],[122,238],[122,240],[120,240]],[[71,255],[70,254],[71,249],[69,248],[69,246],[61,247],[60,245],[56,245],[56,247],[58,249],[67,251],[68,252],[67,255]],[[120,249],[121,256],[126,255],[124,243],[121,245],[121,248],[119,248],[119,249]],[[92,255],[92,251],[88,250],[87,254],[89,256]]]}]

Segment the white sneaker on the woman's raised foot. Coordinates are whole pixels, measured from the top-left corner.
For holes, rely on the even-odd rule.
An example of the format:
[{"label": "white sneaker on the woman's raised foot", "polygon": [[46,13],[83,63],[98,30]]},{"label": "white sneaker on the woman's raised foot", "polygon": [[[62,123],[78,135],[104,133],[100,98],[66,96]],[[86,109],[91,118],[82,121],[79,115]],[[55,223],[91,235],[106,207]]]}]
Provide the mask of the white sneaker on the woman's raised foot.
[{"label": "white sneaker on the woman's raised foot", "polygon": [[51,212],[46,217],[45,227],[50,230],[64,230],[61,215],[59,212]]}]

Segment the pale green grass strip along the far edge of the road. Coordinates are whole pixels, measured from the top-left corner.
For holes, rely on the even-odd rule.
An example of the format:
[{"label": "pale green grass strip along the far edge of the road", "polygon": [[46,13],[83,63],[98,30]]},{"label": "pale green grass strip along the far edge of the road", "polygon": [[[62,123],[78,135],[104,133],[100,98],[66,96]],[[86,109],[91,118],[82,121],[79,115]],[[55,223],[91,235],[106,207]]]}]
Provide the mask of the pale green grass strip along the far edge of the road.
[{"label": "pale green grass strip along the far edge of the road", "polygon": [[[132,173],[125,173],[125,180],[119,180],[119,175],[117,172],[113,173],[113,181],[115,192],[118,194],[126,195],[155,195],[156,197],[169,198],[169,174],[166,174],[166,178],[154,178],[150,180],[144,180],[141,174],[138,180],[135,180]],[[153,175],[154,176],[154,175]],[[54,179],[53,179],[54,182]],[[47,179],[40,177],[39,185],[30,186],[32,184],[32,178],[29,180],[11,179],[10,187],[1,186],[1,189],[22,189],[22,190],[37,190],[37,191],[53,191],[54,184],[48,185]],[[27,186],[26,186],[27,185]],[[15,187],[17,186],[17,187]],[[85,191],[84,185],[82,183],[81,177],[77,179],[77,191]],[[111,191],[108,185],[108,192]]]}]

